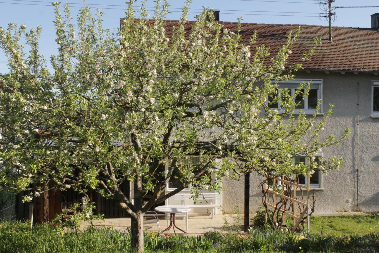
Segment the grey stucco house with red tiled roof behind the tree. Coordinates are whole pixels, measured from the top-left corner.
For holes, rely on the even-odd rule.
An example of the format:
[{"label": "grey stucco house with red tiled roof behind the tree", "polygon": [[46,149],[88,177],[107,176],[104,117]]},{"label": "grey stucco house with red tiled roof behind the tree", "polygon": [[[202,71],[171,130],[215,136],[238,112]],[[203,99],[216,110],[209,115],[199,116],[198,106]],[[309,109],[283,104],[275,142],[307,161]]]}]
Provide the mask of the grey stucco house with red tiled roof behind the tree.
[{"label": "grey stucco house with red tiled roof behind the tree", "polygon": [[[332,27],[332,41],[329,41],[329,27],[326,26],[241,24],[244,43],[248,44],[252,33],[257,31],[255,46],[265,44],[272,54],[285,44],[288,32],[301,27],[302,32],[293,47],[289,65],[302,58],[303,53],[313,46],[315,37],[321,38],[321,46],[317,47],[312,60],[304,63],[304,69],[296,73],[296,79],[279,82],[280,87],[292,91],[300,82],[312,81],[309,96],[304,98],[301,108],[306,113],[315,112],[319,99],[320,117],[330,103],[335,105],[324,134],[338,136],[345,128],[351,129],[351,134],[340,145],[320,150],[317,154],[325,158],[334,155],[343,157],[344,163],[338,171],[327,175],[315,173],[310,178],[310,188],[314,189],[316,199],[315,212],[379,210],[379,190],[376,188],[376,182],[379,181],[379,13],[373,14],[371,19],[371,28]],[[122,22],[121,19],[121,25]],[[168,36],[178,22],[166,21]],[[194,22],[187,22],[186,30],[191,30]],[[236,30],[237,23],[221,23],[230,31]],[[294,163],[301,162],[307,161],[302,157],[294,158]],[[262,177],[253,173],[250,180],[252,213],[262,203],[262,192],[258,187]],[[305,177],[299,180],[303,184],[308,182]],[[243,185],[242,179],[223,180],[222,187],[226,191],[219,195],[217,201],[226,212],[233,212],[235,205],[242,210]],[[172,181],[166,193],[174,188],[175,182]],[[183,190],[184,193],[189,193],[189,190]],[[166,204],[180,204],[180,199],[174,197],[166,200]],[[205,213],[205,210],[199,207],[193,212]]]}]

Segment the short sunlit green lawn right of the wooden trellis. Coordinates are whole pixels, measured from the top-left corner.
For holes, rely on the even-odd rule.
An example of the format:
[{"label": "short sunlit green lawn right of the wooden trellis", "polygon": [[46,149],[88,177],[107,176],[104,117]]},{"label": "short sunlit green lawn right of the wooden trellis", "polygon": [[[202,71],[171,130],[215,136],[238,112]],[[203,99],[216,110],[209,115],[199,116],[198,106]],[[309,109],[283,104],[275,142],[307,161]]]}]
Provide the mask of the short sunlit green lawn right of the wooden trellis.
[{"label": "short sunlit green lawn right of the wooden trellis", "polygon": [[379,215],[311,217],[310,232],[331,236],[369,234],[379,231]]}]

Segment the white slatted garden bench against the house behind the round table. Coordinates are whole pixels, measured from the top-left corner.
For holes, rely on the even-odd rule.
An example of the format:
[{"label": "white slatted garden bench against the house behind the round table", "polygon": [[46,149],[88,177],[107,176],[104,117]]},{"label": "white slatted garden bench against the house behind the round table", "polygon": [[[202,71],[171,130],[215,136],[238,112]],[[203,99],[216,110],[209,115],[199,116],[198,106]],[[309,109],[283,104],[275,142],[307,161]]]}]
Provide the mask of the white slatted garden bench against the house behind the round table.
[{"label": "white slatted garden bench against the house behind the round table", "polygon": [[[203,193],[199,195],[199,198],[196,200],[196,204],[194,204],[193,199],[191,198],[191,193],[177,193],[171,198],[168,199],[168,204],[171,205],[180,205],[190,208],[196,207],[207,207],[211,208],[212,219],[215,218],[215,209],[221,207],[221,194],[219,193]],[[174,203],[170,203],[174,202]],[[180,202],[180,204],[176,204]],[[187,215],[188,216],[188,215]]]}]

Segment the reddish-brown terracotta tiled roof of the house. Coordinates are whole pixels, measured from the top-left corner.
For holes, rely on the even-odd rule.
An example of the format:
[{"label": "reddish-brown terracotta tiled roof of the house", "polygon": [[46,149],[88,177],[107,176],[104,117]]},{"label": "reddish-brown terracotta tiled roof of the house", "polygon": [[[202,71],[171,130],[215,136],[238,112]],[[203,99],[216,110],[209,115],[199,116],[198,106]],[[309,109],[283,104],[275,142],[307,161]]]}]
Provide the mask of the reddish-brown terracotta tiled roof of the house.
[{"label": "reddish-brown terracotta tiled roof of the house", "polygon": [[[178,22],[166,21],[168,36]],[[188,21],[186,30],[190,31],[194,22]],[[237,23],[221,23],[230,31],[236,30]],[[329,27],[326,26],[242,23],[241,36],[247,44],[252,33],[257,31],[256,45],[265,44],[273,55],[287,40],[287,33],[298,27],[302,32],[293,47],[289,63],[299,62],[304,52],[313,46],[313,39],[318,37],[322,44],[317,47],[312,60],[304,63],[305,70],[379,72],[379,32],[370,28],[332,27],[333,42],[330,42]]]}]

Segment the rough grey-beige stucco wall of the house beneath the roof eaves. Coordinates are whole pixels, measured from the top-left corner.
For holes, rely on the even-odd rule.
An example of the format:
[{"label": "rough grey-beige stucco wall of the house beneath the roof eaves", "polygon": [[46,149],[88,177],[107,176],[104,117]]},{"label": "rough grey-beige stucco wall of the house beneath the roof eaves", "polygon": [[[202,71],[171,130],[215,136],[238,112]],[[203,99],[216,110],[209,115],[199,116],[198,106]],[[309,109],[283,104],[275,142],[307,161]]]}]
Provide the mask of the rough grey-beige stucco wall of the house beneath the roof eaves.
[{"label": "rough grey-beige stucco wall of the house beneath the roof eaves", "polygon": [[[352,211],[379,211],[379,118],[370,117],[371,82],[379,80],[379,76],[371,73],[299,72],[296,78],[323,79],[324,112],[329,109],[329,103],[335,105],[325,135],[338,136],[345,128],[351,129],[351,134],[340,145],[322,150],[325,158],[342,157],[343,166],[323,175],[323,189],[315,191],[315,212],[346,211],[349,199]],[[262,202],[261,189],[258,188],[262,178],[252,173],[250,180],[250,212],[255,212]],[[226,189],[222,194],[225,210],[233,212],[238,205],[243,211],[244,178],[224,179],[223,187]]]}]

